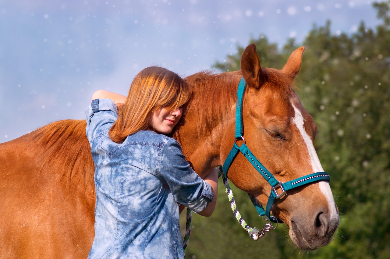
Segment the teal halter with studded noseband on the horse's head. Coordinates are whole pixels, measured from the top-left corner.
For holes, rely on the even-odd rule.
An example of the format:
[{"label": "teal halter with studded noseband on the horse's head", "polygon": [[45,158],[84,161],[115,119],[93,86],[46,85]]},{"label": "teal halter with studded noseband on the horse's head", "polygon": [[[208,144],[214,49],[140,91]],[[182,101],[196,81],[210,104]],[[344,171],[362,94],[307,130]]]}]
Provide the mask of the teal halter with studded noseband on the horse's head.
[{"label": "teal halter with studded noseband on the horse's head", "polygon": [[[291,180],[289,182],[280,182],[260,163],[260,161],[252,154],[249,150],[248,146],[245,144],[244,140],[244,132],[243,132],[243,120],[242,120],[242,99],[244,95],[246,82],[244,78],[241,78],[241,81],[238,85],[237,97],[238,101],[236,103],[236,131],[235,131],[235,140],[232,149],[230,150],[225,163],[223,163],[222,171],[225,177],[227,178],[227,172],[229,171],[230,165],[232,164],[234,158],[236,158],[238,152],[241,152],[248,161],[254,166],[254,168],[259,172],[264,179],[271,185],[271,193],[269,194],[266,210],[262,207],[262,205],[258,205],[257,201],[254,200],[251,196],[251,201],[255,206],[257,213],[260,217],[265,219],[267,222],[271,220],[274,223],[283,223],[280,219],[275,216],[270,216],[271,207],[275,199],[282,198],[286,191],[294,189],[296,187],[300,187],[306,184],[312,184],[319,181],[330,181],[330,177],[326,172],[317,172],[312,173],[310,175],[306,175],[303,177],[299,177],[295,180]],[[242,140],[243,144],[239,147],[237,145],[237,140]],[[277,189],[280,189],[282,192],[278,194]],[[266,218],[264,218],[266,216]]]}]

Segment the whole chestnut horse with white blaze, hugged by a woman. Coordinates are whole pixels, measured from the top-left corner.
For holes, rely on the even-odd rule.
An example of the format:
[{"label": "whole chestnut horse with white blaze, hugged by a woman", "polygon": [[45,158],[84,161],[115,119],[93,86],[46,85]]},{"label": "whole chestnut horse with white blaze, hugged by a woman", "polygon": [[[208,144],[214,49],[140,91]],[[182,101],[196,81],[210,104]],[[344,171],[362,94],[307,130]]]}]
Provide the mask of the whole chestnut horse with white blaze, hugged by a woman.
[{"label": "whole chestnut horse with white blaze, hugged by a woman", "polygon": [[[246,47],[241,71],[200,72],[186,115],[173,133],[191,166],[204,176],[223,164],[234,143],[236,91],[243,77],[243,125],[248,147],[278,181],[322,172],[314,149],[316,124],[293,90],[304,47],[282,70],[262,68],[255,45]],[[0,257],[85,258],[94,239],[94,164],[83,120],[54,122],[0,144]],[[271,187],[238,154],[231,182],[266,204]],[[339,224],[328,182],[291,190],[272,214],[289,226],[305,250],[330,243]]]}]

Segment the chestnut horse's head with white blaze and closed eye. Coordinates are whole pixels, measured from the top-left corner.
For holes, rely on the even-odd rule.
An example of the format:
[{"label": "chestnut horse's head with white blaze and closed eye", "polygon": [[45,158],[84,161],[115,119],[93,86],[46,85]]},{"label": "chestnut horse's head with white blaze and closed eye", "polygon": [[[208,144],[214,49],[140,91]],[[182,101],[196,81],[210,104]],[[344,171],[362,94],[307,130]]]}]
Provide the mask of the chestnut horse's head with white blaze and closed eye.
[{"label": "chestnut horse's head with white blaze and closed eye", "polygon": [[[296,49],[282,70],[262,68],[255,45],[241,57],[246,81],[243,95],[243,137],[246,145],[280,182],[323,172],[314,149],[316,124],[293,90],[300,71],[304,47]],[[227,128],[234,128],[234,116]],[[234,143],[234,133],[225,131],[220,158],[224,161]],[[271,186],[242,155],[232,162],[232,183],[267,204]],[[291,240],[305,250],[327,245],[339,224],[338,209],[328,182],[320,181],[288,191],[275,200],[271,213],[289,226]]]}]

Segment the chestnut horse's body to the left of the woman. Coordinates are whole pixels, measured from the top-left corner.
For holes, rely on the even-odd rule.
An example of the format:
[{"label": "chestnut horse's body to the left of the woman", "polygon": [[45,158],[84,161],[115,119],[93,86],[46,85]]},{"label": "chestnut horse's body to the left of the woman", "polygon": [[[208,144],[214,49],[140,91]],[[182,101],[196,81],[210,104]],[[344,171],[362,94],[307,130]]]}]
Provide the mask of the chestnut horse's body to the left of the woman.
[{"label": "chestnut horse's body to the left of the woman", "polygon": [[2,258],[88,254],[96,198],[85,126],[59,121],[0,144]]}]

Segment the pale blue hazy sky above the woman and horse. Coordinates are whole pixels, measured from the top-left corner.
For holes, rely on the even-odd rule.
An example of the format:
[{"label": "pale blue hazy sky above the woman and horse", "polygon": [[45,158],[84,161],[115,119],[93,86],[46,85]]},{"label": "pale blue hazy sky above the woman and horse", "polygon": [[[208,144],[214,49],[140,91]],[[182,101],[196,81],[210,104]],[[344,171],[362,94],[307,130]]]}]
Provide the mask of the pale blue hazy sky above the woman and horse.
[{"label": "pale blue hazy sky above the woman and horse", "polygon": [[[127,95],[143,68],[213,69],[261,35],[302,43],[313,25],[379,24],[372,0],[0,0],[0,143],[85,119],[92,93]],[[303,57],[305,58],[305,57]]]}]

